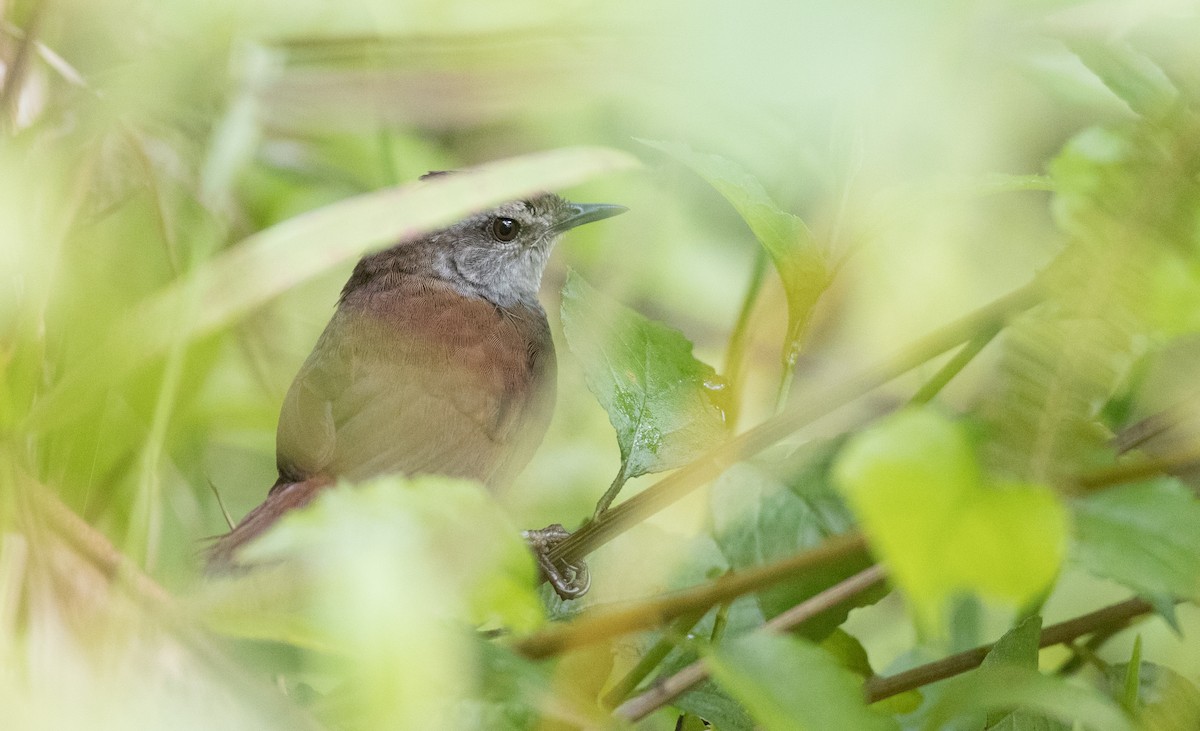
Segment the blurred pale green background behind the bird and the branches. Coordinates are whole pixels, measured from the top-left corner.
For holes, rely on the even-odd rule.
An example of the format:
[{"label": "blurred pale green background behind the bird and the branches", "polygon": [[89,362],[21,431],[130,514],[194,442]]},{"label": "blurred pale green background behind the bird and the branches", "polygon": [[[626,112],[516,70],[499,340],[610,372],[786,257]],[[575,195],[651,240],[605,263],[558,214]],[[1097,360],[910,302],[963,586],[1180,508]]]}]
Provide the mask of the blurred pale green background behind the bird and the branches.
[{"label": "blurred pale green background behind the bird and the branches", "polygon": [[[572,233],[551,262],[558,409],[502,496],[518,527],[575,526],[618,455],[557,322],[568,269],[680,329],[720,370],[758,250],[715,191],[638,140],[737,161],[838,263],[796,396],[1026,283],[1061,251],[1033,176],[1082,128],[1134,119],[1064,40],[1134,40],[1200,79],[1196,5],[1182,0],[0,0],[0,19],[2,509],[19,523],[29,493],[18,487],[41,485],[176,592],[194,582],[200,540],[224,531],[212,489],[236,520],[274,481],[280,402],[354,263],[343,252],[300,277],[283,256],[230,286],[288,282],[250,312],[202,334],[184,320],[142,329],[146,301],[246,236],[431,169],[574,145],[638,157],[638,169],[562,191],[630,212]],[[1178,317],[1178,331],[1196,322]],[[785,325],[768,272],[749,329],[743,425],[773,411]],[[936,365],[806,436],[892,406]],[[988,377],[970,370],[943,397],[970,408]],[[689,535],[704,515],[695,498],[647,529]],[[130,690],[145,657],[170,665],[170,648],[116,640],[125,610],[80,609],[89,603],[76,593],[103,592],[55,585],[34,568],[54,552],[18,544],[6,538],[0,551],[0,659],[12,669],[0,699],[35,691],[18,705],[28,726],[13,727],[72,718],[54,708],[64,687],[90,688],[80,707],[100,713],[95,727],[226,727],[200,709],[262,725],[221,694],[167,681],[158,697]],[[640,545],[614,545],[599,567],[622,567]],[[601,599],[654,586],[598,573]],[[1049,613],[1105,593],[1118,594],[1068,580]],[[1180,615],[1195,627],[1194,612]],[[114,639],[80,649],[59,631],[72,622]],[[912,643],[895,600],[856,622],[880,665]],[[1200,672],[1165,631],[1147,642],[1159,661]],[[119,670],[101,678],[108,666]],[[91,685],[100,679],[126,693],[108,696]]]}]

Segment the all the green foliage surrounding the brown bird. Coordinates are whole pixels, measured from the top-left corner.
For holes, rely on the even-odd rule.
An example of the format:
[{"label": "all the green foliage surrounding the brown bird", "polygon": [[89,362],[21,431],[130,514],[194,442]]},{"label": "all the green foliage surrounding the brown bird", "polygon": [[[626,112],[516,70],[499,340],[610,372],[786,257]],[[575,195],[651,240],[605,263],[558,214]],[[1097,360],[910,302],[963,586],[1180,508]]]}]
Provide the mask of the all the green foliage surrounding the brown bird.
[{"label": "all the green foliage surrounding the brown bird", "polygon": [[[626,701],[704,658],[636,727],[1196,727],[1195,373],[1166,355],[1200,334],[1200,19],[1058,5],[5,4],[6,724],[625,729],[628,669]],[[680,164],[640,167],[647,134]],[[198,576],[212,489],[238,517],[275,479],[353,260],[540,190],[631,211],[551,259],[580,367],[520,495],[343,485]],[[1030,278],[1036,306],[938,329]],[[547,606],[520,528],[583,517],[610,426],[606,499],[678,472],[635,529],[592,522],[592,594]],[[756,631],[876,559],[907,603]],[[1042,673],[1031,612],[1093,617],[1080,571],[1168,622],[1132,657],[1091,624]],[[727,611],[655,613],[746,575]],[[865,706],[1014,607],[983,667]],[[649,629],[517,651],[610,610]]]}]

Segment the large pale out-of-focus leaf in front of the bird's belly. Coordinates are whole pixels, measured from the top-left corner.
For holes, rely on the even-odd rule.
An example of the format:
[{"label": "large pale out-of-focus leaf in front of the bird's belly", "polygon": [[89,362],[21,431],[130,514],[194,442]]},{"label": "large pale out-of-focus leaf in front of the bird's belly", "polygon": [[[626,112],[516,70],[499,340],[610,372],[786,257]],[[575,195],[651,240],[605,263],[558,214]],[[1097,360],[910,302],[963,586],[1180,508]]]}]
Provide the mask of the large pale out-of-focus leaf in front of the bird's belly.
[{"label": "large pale out-of-focus leaf in front of the bird's belly", "polygon": [[[542,616],[520,532],[464,480],[386,478],[330,490],[244,557],[287,562],[301,581],[294,611],[330,651],[312,663],[343,681],[346,702],[335,706],[359,727],[439,727],[474,690],[470,624],[527,629]],[[280,571],[268,581],[286,581]],[[252,575],[215,587],[208,615],[238,634],[271,637],[270,617],[253,616],[262,601],[247,595]]]}]

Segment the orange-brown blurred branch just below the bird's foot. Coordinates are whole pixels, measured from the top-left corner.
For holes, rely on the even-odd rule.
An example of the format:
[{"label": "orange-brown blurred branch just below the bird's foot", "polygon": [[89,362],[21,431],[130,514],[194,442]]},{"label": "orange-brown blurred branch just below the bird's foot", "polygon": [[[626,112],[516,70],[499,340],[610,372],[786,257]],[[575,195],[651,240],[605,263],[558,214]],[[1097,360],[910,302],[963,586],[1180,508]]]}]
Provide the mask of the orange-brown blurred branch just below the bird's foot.
[{"label": "orange-brown blurred branch just below the bird's foot", "polygon": [[809,571],[815,567],[858,556],[865,551],[866,539],[860,534],[839,535],[782,561],[726,574],[716,581],[691,589],[623,607],[592,610],[572,622],[556,624],[517,641],[514,649],[527,658],[547,658],[610,637],[658,627],[694,611],[708,610],[797,573]]}]

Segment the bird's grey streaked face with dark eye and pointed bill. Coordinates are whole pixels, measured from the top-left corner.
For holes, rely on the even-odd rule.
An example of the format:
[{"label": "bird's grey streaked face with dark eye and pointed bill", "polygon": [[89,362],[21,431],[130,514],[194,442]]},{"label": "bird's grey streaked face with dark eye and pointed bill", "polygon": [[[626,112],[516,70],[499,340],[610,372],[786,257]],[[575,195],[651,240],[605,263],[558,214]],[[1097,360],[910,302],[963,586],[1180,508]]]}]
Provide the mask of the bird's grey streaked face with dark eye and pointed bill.
[{"label": "bird's grey streaked face with dark eye and pointed bill", "polygon": [[624,212],[620,205],[569,203],[553,193],[512,200],[431,236],[438,274],[502,307],[538,304],[538,289],[563,233]]}]

